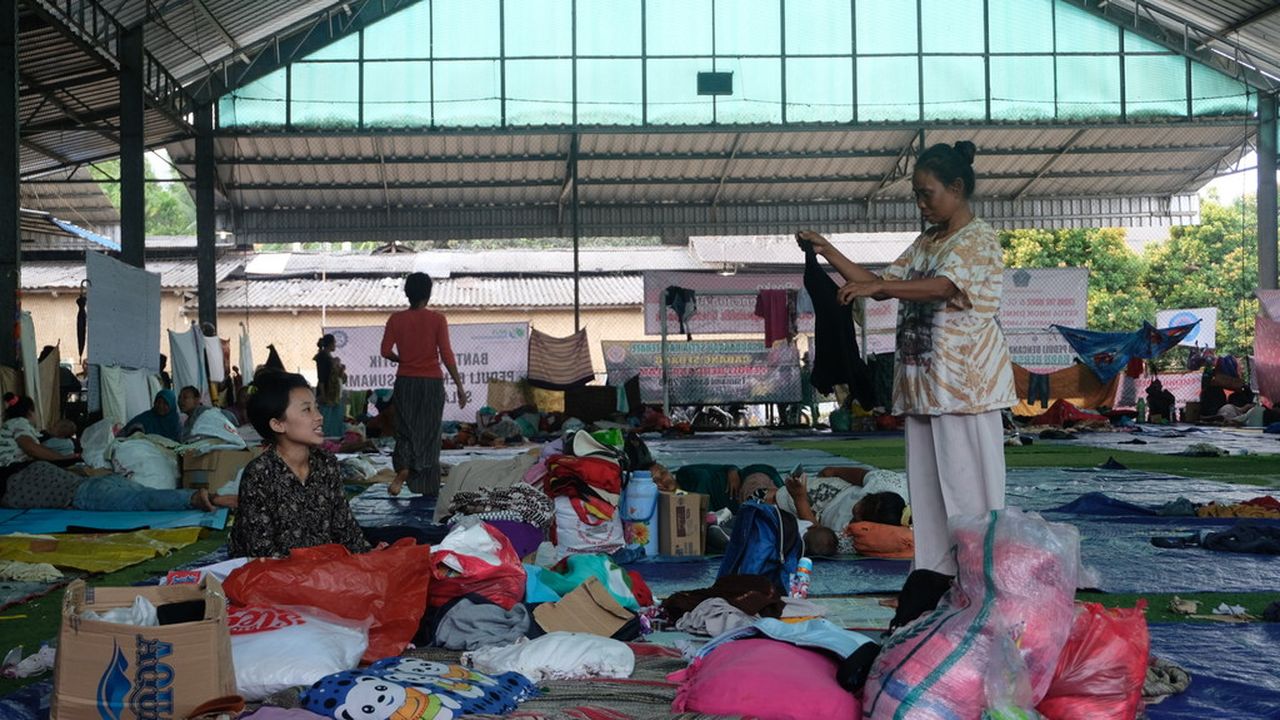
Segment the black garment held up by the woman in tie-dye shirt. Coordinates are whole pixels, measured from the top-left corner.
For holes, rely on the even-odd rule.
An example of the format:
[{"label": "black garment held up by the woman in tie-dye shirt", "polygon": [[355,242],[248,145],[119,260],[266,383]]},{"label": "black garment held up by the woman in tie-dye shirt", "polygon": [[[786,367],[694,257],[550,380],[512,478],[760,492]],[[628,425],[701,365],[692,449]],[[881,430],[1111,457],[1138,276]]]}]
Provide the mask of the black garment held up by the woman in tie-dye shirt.
[{"label": "black garment held up by the woman in tie-dye shirt", "polygon": [[[890,396],[887,404],[883,398],[877,402],[876,377],[858,351],[858,336],[854,332],[850,309],[836,299],[840,287],[822,269],[818,255],[812,250],[805,251],[804,288],[813,299],[815,352],[809,377],[813,387],[828,395],[835,386],[847,384],[858,404],[868,410],[877,405],[892,405],[892,389],[887,393]],[[892,355],[888,368],[892,368]],[[892,370],[888,372],[888,382],[892,387]]]}]

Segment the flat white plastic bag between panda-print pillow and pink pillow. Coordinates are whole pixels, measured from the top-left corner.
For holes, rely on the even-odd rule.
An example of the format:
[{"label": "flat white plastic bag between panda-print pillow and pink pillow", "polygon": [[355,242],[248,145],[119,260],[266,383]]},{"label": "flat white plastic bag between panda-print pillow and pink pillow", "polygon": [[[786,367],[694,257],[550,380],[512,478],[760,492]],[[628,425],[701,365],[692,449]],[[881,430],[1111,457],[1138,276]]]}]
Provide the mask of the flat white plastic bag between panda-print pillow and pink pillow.
[{"label": "flat white plastic bag between panda-print pillow and pink pillow", "polygon": [[462,653],[462,664],[490,675],[520,673],[535,683],[582,678],[630,678],[636,666],[627,643],[590,633],[547,633],[535,641]]}]

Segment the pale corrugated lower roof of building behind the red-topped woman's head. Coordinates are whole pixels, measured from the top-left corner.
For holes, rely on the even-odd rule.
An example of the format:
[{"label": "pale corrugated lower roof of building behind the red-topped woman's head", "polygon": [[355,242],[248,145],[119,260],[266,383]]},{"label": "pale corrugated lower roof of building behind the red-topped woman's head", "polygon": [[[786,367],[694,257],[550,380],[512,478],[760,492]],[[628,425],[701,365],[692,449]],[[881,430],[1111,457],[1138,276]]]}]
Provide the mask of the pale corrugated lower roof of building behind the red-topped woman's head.
[{"label": "pale corrugated lower roof of building behind the red-topped woman's head", "polygon": [[[623,307],[644,301],[644,283],[636,274],[584,275],[581,305]],[[218,307],[227,310],[293,310],[342,307],[352,310],[404,307],[401,278],[260,279],[227,283],[218,292]],[[573,279],[564,277],[447,278],[431,291],[435,307],[572,307]]]}]

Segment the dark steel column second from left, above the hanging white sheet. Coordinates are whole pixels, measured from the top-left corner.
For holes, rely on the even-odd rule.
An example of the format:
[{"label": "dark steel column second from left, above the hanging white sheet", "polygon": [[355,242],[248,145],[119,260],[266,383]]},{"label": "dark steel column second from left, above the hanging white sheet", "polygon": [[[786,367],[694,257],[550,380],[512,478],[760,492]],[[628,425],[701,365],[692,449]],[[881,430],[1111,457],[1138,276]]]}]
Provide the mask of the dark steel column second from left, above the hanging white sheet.
[{"label": "dark steel column second from left, above the hanging white sheet", "polygon": [[146,256],[146,105],[142,95],[142,27],[120,37],[120,259],[142,268]]}]

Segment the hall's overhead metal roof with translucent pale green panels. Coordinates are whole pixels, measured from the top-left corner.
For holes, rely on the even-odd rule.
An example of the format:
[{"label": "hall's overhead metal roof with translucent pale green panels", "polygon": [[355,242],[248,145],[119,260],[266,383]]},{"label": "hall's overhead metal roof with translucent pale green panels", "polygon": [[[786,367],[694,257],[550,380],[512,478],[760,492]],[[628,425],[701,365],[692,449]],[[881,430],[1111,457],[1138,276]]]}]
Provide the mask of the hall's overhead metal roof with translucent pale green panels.
[{"label": "hall's overhead metal roof with translucent pale green panels", "polygon": [[[536,22],[561,22],[570,17],[567,0],[19,3],[23,177],[35,182],[52,169],[115,152],[120,44],[141,28],[146,142],[168,146],[189,177],[191,108],[219,102],[220,224],[241,242],[567,236],[575,196],[582,234],[684,240],[796,227],[906,232],[918,227],[904,179],[911,156],[925,145],[960,137],[980,149],[979,193],[986,200],[979,211],[1000,227],[1188,223],[1198,218],[1189,193],[1238,167],[1256,145],[1257,122],[1242,108],[1249,92],[1274,92],[1280,69],[1280,17],[1276,4],[1266,0],[987,0],[978,5],[1000,8],[991,12],[992,24],[983,27],[982,13],[977,26],[959,13],[955,22],[969,23],[964,27],[970,32],[950,33],[950,45],[931,40],[928,23],[936,18],[925,5],[902,4],[902,10],[892,10],[902,17],[891,17],[877,14],[884,4],[858,0],[847,6],[823,3],[820,12],[799,0],[650,0],[648,20],[640,0],[616,0],[603,14],[586,0],[573,5],[582,18],[573,15],[579,29],[572,37],[554,28],[524,32],[529,8],[547,10],[531,15]],[[744,13],[751,9],[769,12]],[[785,22],[771,19],[772,10]],[[397,13],[406,14],[393,17]],[[408,13],[429,15],[430,22],[413,24]],[[607,17],[611,13],[617,17]],[[870,22],[841,31],[822,13],[844,13],[845,19],[870,13]],[[595,27],[584,24],[588,15],[623,32],[635,31],[639,20],[650,29],[648,47],[639,31],[634,47],[630,38],[602,46],[599,37],[582,35],[584,27]],[[742,15],[739,26],[746,28],[741,37],[722,32],[714,19],[730,18],[724,27],[733,28],[735,15]],[[364,38],[388,18],[383,27],[403,26],[408,42],[428,49],[426,60],[370,58],[378,47],[365,47],[376,44]],[[502,29],[520,18],[526,24],[518,31]],[[1098,19],[1110,23],[1114,47],[1106,32],[1096,32],[1103,27]],[[1089,20],[1093,26],[1085,27]],[[997,37],[998,22],[1007,27]],[[835,27],[847,37],[823,50],[800,47],[796,38],[806,35],[788,44],[787,33],[810,26]],[[908,26],[920,31],[916,40],[883,31]],[[774,35],[751,36],[756,27],[774,28]],[[1032,31],[1047,33],[1048,45],[1027,41]],[[680,46],[687,33],[698,32],[698,44],[710,38],[707,49],[663,47]],[[986,49],[972,42],[982,36]],[[1001,40],[1005,36],[1014,40]],[[431,42],[422,44],[422,37]],[[746,38],[759,47],[744,45]],[[355,46],[358,53],[351,55]],[[804,68],[844,53],[851,68],[858,67],[852,91],[836,82],[845,70],[831,74],[824,86],[805,86],[810,76],[827,74]],[[662,73],[678,69],[691,78],[694,69],[704,69],[696,67],[703,55],[712,67],[718,59],[736,72],[750,91],[718,100],[689,96],[691,87],[680,90],[680,97],[654,95],[669,90],[663,90]],[[1103,61],[1108,58],[1110,65]],[[1184,58],[1185,88],[1181,70],[1169,72]],[[357,74],[326,85],[319,63]],[[396,63],[403,67],[396,69]],[[563,78],[556,78],[579,64],[582,73],[573,69],[570,92]],[[430,101],[428,122],[380,120],[364,109],[351,110],[357,102],[417,101],[412,99],[419,90],[379,100],[366,88],[376,95],[379,82],[413,85],[413,73],[429,65],[431,81],[421,100]],[[485,69],[490,65],[492,72]],[[1047,100],[1016,76],[1037,67],[1053,68]],[[458,74],[463,70],[480,74]],[[628,76],[632,70],[639,85]],[[593,81],[591,73],[605,82]],[[986,88],[974,86],[983,76]],[[1064,92],[1059,86],[1094,76],[1092,90]],[[399,81],[371,79],[392,77]],[[529,77],[548,83],[547,97],[521,96],[520,83]],[[755,78],[765,78],[764,85]],[[777,92],[769,86],[777,81],[782,92],[773,99]],[[1247,88],[1244,105],[1224,100],[1236,94],[1228,87],[1231,82]],[[585,83],[584,94],[603,95],[580,96],[579,83]],[[271,95],[276,86],[285,105],[273,109],[274,97],[255,97],[264,90]],[[913,87],[906,97],[892,99]],[[278,113],[280,127],[244,126],[252,122],[248,115],[227,104],[236,94],[256,113]],[[628,94],[635,94],[634,102],[617,100]],[[867,94],[873,95],[869,102]],[[876,94],[891,100],[877,100]],[[1019,94],[1032,100],[1010,115],[1018,102],[1009,96]],[[849,118],[845,106],[852,108]],[[904,111],[913,117],[913,108],[914,119],[904,119]],[[1029,115],[1018,114],[1028,108]],[[486,115],[499,110],[497,120]],[[329,122],[325,113],[351,119]]]}]

